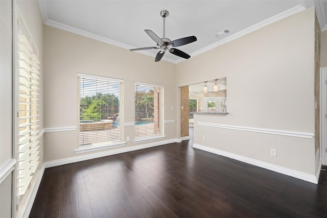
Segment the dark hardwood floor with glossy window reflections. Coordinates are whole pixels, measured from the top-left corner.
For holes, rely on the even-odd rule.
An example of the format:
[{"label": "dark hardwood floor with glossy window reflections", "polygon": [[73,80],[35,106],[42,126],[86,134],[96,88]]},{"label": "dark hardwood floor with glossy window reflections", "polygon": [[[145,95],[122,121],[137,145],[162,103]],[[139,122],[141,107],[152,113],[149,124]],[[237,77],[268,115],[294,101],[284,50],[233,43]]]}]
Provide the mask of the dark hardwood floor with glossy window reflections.
[{"label": "dark hardwood floor with glossy window reflections", "polygon": [[46,168],[30,217],[327,217],[315,185],[193,141]]}]

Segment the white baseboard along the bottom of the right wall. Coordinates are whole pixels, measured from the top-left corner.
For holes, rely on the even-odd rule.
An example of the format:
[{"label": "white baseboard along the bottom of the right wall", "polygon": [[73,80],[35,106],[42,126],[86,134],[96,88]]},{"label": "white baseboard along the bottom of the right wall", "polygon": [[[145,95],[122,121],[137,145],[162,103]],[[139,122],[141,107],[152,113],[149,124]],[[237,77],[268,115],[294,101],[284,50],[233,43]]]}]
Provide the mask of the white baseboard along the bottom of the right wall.
[{"label": "white baseboard along the bottom of the right wall", "polygon": [[297,178],[297,179],[305,180],[307,182],[318,184],[318,180],[316,178],[316,175],[310,175],[310,174],[307,174],[307,173],[302,173],[302,172],[299,172],[299,171],[295,171],[294,169],[289,169],[289,168],[285,168],[285,167],[282,167],[282,166],[277,166],[277,165],[274,165],[274,164],[271,164],[271,163],[263,162],[263,161],[260,161],[260,160],[254,160],[252,158],[248,158],[248,157],[232,154],[232,153],[229,153],[229,152],[221,151],[221,150],[218,150],[218,149],[209,148],[209,147],[206,147],[206,146],[201,146],[200,144],[196,144],[196,143],[193,143],[193,148],[200,149],[200,150],[210,152],[210,153],[213,153],[213,154],[218,154],[218,155],[228,157],[228,158],[231,158],[231,159],[234,159],[234,160],[238,160],[238,161],[241,161],[241,162],[249,163],[251,165],[255,165],[255,166],[265,168],[265,169],[269,169],[270,171],[274,171],[274,172],[281,173],[281,174],[284,174],[284,175],[287,175],[287,176],[291,176],[291,177],[294,177],[294,178]]}]

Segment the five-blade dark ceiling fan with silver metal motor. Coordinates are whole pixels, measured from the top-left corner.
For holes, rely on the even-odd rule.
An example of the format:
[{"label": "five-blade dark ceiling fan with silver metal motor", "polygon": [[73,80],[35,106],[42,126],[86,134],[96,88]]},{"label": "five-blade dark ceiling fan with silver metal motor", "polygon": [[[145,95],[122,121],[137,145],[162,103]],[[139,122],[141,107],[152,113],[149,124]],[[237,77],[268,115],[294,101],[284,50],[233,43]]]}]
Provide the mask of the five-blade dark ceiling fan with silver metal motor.
[{"label": "five-blade dark ceiling fan with silver metal motor", "polygon": [[149,49],[160,49],[155,57],[155,62],[160,61],[162,56],[164,56],[165,52],[168,50],[173,55],[177,55],[179,57],[189,59],[191,56],[175,49],[175,47],[189,44],[191,42],[195,42],[197,39],[195,36],[189,36],[185,38],[175,39],[171,41],[168,38],[165,38],[165,18],[168,16],[169,12],[167,10],[160,11],[160,16],[164,18],[164,37],[160,38],[157,36],[152,30],[144,30],[150,38],[157,43],[156,47],[140,47],[139,49],[130,49],[130,51],[138,51],[138,50],[149,50]]}]

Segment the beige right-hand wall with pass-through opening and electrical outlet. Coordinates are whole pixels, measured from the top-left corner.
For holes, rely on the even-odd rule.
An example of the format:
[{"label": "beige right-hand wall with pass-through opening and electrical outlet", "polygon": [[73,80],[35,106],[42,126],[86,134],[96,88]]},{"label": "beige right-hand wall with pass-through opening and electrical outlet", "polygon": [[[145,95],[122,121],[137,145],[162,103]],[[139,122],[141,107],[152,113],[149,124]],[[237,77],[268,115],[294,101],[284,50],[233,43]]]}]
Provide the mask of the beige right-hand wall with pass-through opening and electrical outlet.
[{"label": "beige right-hand wall with pass-through opening and electrical outlet", "polygon": [[310,8],[176,66],[177,86],[227,77],[228,114],[197,114],[196,144],[315,175],[314,139],[196,125],[314,134],[314,20]]}]

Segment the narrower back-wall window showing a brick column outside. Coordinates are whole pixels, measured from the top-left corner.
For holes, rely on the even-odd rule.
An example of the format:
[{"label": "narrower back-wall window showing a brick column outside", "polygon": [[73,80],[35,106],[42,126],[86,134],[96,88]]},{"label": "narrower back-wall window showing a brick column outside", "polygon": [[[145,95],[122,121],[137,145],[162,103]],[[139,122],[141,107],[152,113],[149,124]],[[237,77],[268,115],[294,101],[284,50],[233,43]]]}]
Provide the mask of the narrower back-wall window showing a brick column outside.
[{"label": "narrower back-wall window showing a brick column outside", "polygon": [[163,137],[164,87],[135,83],[135,141]]}]

